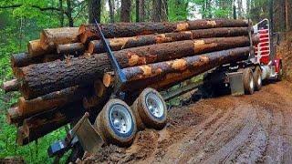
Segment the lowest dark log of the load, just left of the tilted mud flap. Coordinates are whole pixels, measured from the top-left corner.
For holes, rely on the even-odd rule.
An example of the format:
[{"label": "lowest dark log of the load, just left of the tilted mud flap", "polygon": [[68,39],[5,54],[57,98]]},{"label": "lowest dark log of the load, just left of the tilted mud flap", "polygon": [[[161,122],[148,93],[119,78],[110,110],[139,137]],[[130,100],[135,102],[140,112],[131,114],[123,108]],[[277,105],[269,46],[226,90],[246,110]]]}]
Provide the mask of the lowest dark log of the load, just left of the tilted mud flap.
[{"label": "lowest dark log of the load, just left of the tilted mud flap", "polygon": [[47,133],[65,126],[74,118],[80,118],[84,113],[82,102],[77,101],[63,108],[55,108],[26,118],[23,124],[25,137],[29,142],[34,141],[36,138],[41,138]]}]

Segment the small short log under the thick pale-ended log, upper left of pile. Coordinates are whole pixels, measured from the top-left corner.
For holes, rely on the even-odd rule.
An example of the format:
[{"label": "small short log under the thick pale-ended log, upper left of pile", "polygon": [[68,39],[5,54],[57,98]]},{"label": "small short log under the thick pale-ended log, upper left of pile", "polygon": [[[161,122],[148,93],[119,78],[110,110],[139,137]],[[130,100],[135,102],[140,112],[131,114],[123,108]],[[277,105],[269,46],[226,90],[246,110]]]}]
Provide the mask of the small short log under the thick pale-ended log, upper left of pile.
[{"label": "small short log under the thick pale-ended log, upper left of pile", "polygon": [[58,45],[57,54],[79,56],[85,52],[85,46],[82,43],[73,43],[67,45]]}]

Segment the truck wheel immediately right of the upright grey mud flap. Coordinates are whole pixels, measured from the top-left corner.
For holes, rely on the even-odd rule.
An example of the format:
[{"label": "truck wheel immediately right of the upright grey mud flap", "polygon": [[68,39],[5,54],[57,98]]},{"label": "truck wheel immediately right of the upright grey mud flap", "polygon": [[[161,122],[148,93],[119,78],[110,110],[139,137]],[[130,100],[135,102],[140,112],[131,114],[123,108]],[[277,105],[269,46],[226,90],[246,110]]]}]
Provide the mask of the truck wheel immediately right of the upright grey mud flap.
[{"label": "truck wheel immediately right of the upright grey mud flap", "polygon": [[251,68],[245,68],[243,70],[243,81],[245,94],[253,95],[255,92],[255,80],[253,76],[253,71]]}]

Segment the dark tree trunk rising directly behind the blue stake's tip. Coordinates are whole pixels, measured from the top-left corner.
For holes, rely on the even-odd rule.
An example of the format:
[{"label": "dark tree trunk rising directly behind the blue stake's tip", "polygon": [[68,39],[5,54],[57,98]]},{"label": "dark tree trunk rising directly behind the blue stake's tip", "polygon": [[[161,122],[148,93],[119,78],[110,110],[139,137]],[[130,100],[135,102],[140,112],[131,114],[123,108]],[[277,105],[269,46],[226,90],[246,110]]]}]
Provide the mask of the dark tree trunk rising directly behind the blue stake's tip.
[{"label": "dark tree trunk rising directly behind the blue stake's tip", "polygon": [[94,24],[94,18],[100,22],[100,7],[101,1],[100,0],[88,0],[89,3],[89,24]]}]

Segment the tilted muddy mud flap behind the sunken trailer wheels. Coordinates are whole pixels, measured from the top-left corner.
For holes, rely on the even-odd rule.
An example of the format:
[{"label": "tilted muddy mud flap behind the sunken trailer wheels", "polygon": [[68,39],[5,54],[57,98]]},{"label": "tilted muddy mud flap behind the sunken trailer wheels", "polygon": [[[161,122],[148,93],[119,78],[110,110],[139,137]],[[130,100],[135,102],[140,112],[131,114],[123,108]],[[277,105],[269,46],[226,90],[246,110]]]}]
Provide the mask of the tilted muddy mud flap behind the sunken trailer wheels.
[{"label": "tilted muddy mud flap behind the sunken trailer wheels", "polygon": [[85,115],[78,121],[78,124],[72,129],[80,145],[89,153],[96,153],[104,143],[98,131],[89,122],[89,115]]}]

